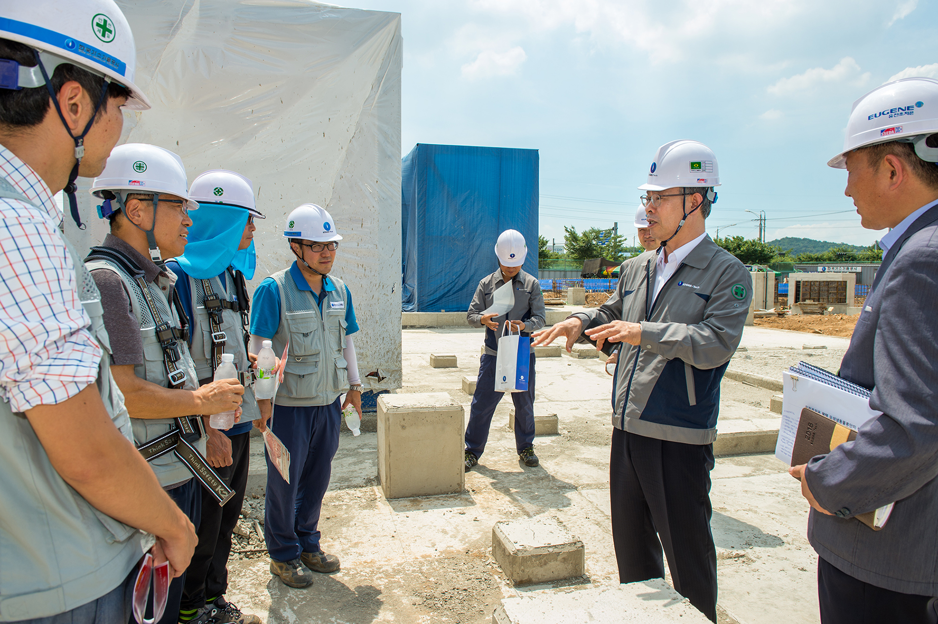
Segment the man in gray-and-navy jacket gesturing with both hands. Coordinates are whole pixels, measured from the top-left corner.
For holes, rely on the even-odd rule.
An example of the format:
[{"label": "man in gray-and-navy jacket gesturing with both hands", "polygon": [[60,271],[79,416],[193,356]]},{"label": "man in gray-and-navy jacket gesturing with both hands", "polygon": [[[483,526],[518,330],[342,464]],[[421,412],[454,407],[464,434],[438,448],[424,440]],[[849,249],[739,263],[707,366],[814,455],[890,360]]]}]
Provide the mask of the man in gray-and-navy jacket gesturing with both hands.
[{"label": "man in gray-and-navy jacket gesturing with both hands", "polygon": [[[583,333],[622,342],[613,382],[610,460],[619,581],[664,577],[717,621],[717,555],[710,532],[710,470],[719,384],[743,333],[752,280],[706,236],[717,159],[696,141],[658,148],[648,175],[648,228],[657,252],[628,260],[613,297],[536,332],[534,344]],[[598,326],[598,327],[597,327]],[[584,327],[591,327],[583,332]]]}]

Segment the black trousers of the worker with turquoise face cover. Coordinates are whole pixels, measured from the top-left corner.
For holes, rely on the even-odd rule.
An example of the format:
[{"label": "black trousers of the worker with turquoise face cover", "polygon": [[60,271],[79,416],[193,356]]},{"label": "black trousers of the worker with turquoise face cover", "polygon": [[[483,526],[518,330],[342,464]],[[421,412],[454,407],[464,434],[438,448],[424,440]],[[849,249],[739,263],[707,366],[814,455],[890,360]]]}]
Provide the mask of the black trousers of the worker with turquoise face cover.
[{"label": "black trousers of the worker with turquoise face cover", "polygon": [[206,598],[218,598],[228,590],[228,556],[232,550],[232,531],[241,514],[248,486],[250,432],[232,436],[232,464],[215,468],[234,496],[224,507],[211,495],[202,497],[202,523],[199,543],[186,569],[186,585],[180,609],[190,611],[204,606]]}]

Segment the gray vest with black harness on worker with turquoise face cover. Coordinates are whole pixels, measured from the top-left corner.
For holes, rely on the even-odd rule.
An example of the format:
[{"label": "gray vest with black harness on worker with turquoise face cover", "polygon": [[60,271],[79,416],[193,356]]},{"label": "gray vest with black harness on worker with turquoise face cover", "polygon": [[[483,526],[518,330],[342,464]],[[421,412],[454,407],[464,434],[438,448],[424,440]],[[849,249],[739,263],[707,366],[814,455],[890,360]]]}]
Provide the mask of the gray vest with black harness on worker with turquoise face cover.
[{"label": "gray vest with black harness on worker with turquoise face cover", "polygon": [[[235,279],[229,271],[225,280],[229,288],[225,288],[218,277],[197,280],[189,276],[193,316],[189,355],[195,362],[195,373],[200,380],[214,378],[222,353],[234,355],[234,368],[238,372],[244,373],[250,369],[248,349],[242,340],[244,326],[239,307],[245,302],[239,301],[234,294],[237,292]],[[211,312],[215,312],[217,321],[211,317]],[[241,410],[240,422],[261,418],[253,388],[244,388]]]}]

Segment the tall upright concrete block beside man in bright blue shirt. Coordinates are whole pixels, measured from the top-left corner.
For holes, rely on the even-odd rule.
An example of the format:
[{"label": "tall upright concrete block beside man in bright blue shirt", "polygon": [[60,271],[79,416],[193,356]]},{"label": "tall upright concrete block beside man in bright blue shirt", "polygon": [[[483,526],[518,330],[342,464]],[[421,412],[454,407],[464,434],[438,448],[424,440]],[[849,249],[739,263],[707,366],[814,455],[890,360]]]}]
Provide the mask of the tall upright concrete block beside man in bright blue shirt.
[{"label": "tall upright concrete block beside man in bright blue shirt", "polygon": [[386,498],[462,492],[464,418],[446,392],[378,397],[378,479]]}]

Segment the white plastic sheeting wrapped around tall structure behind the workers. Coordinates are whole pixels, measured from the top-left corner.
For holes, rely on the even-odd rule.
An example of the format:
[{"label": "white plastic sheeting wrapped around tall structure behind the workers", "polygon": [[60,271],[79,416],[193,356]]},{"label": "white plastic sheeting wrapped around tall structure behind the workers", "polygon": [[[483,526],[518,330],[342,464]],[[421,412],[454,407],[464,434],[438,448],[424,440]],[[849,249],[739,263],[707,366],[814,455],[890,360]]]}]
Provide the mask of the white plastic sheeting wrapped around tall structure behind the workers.
[{"label": "white plastic sheeting wrapped around tall structure behind the workers", "polygon": [[[366,388],[401,387],[401,16],[299,0],[144,0],[118,4],[153,102],[126,113],[123,140],[172,149],[191,181],[231,169],[253,181],[257,272],[294,260],[287,214],[323,205],[343,239],[334,273],[352,291]],[[107,233],[87,178],[87,247]],[[378,382],[368,373],[380,371]]]}]

